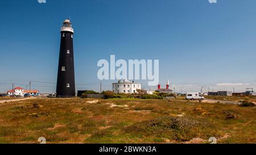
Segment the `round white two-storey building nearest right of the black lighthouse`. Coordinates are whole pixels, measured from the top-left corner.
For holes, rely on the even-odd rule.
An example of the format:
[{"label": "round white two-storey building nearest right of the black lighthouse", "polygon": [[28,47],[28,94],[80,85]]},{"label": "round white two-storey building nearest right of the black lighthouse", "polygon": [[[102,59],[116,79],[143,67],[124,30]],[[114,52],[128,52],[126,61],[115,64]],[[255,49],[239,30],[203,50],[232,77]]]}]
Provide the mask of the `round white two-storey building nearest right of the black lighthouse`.
[{"label": "round white two-storey building nearest right of the black lighthouse", "polygon": [[141,90],[141,83],[130,82],[127,79],[118,80],[118,83],[112,83],[114,93],[133,94],[137,93],[137,89]]}]

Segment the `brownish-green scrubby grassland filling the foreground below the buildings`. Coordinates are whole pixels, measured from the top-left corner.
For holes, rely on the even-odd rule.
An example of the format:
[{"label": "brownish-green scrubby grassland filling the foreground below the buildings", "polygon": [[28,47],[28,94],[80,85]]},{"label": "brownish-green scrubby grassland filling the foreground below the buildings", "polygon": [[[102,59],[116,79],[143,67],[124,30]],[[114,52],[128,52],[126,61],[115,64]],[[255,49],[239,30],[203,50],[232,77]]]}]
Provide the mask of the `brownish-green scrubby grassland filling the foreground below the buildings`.
[{"label": "brownish-green scrubby grassland filling the foreground below the buildings", "polygon": [[[256,143],[256,108],[172,100],[31,99],[0,104],[0,143]],[[95,99],[96,100],[96,99]],[[117,105],[117,106],[113,106]]]}]

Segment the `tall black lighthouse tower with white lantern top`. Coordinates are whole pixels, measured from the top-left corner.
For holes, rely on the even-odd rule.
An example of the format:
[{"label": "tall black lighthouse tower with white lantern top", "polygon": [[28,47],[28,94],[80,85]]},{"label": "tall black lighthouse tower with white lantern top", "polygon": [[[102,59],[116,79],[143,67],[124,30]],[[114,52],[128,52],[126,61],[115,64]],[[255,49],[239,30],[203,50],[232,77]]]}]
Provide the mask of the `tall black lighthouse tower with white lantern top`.
[{"label": "tall black lighthouse tower with white lantern top", "polygon": [[69,19],[63,22],[60,29],[60,56],[57,77],[56,97],[75,97],[75,67],[73,53],[73,33],[72,23]]}]

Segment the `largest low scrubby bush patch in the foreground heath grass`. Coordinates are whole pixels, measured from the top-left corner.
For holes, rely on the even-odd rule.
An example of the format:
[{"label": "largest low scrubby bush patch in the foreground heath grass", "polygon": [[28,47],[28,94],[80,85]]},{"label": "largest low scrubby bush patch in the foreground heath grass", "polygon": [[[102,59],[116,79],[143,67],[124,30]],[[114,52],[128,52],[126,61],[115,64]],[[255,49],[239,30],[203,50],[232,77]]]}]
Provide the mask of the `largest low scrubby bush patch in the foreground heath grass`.
[{"label": "largest low scrubby bush patch in the foreground heath grass", "polygon": [[188,141],[194,137],[208,137],[207,134],[212,135],[212,132],[205,134],[205,131],[199,131],[201,128],[209,131],[209,125],[195,118],[164,116],[129,125],[123,128],[123,132],[132,133],[135,136],[146,135]]}]

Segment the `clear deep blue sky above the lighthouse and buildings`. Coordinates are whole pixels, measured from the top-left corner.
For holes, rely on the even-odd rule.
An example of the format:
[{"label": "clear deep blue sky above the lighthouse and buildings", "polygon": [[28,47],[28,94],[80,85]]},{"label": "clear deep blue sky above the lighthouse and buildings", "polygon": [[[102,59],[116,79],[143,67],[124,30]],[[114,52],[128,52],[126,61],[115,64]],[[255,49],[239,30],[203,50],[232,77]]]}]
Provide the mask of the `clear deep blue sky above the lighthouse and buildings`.
[{"label": "clear deep blue sky above the lighthouse and buildings", "polygon": [[[99,91],[97,62],[110,55],[159,59],[160,83],[170,79],[176,92],[256,89],[255,8],[255,0],[1,1],[0,92],[29,81],[55,91],[60,27],[69,16],[76,89]],[[112,82],[102,81],[104,89]]]}]

